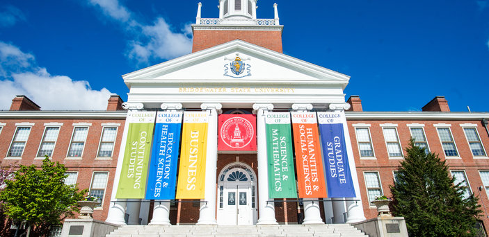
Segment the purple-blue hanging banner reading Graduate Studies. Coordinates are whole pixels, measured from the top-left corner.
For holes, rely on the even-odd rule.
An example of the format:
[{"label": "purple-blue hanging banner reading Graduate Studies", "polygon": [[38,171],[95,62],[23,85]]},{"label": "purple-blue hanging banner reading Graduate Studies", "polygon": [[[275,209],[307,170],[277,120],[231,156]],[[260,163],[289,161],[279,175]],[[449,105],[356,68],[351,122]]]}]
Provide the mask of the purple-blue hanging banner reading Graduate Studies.
[{"label": "purple-blue hanging banner reading Graduate Studies", "polygon": [[344,112],[318,112],[317,115],[328,198],[355,198],[343,130]]}]

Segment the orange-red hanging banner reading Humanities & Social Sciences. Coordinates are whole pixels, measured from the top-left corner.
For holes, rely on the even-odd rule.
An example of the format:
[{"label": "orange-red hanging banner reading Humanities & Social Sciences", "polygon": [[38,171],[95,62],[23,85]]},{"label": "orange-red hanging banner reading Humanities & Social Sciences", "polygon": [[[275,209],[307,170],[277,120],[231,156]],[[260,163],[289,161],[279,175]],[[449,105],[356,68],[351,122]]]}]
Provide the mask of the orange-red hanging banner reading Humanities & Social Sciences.
[{"label": "orange-red hanging banner reading Humanities & Social Sciences", "polygon": [[315,112],[291,112],[299,198],[328,198]]}]

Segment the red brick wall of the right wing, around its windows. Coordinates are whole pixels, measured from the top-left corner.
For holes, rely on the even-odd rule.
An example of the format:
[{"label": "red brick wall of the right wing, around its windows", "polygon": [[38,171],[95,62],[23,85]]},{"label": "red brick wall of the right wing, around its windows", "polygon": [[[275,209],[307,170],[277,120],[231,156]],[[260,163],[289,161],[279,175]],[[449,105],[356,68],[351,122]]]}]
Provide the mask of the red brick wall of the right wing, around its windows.
[{"label": "red brick wall of the right wing, around its windows", "polygon": [[[369,130],[371,133],[371,139],[374,146],[374,152],[376,159],[360,159],[360,152],[358,150],[358,143],[355,134],[354,124],[369,124]],[[377,171],[380,175],[380,182],[382,184],[382,189],[384,195],[387,197],[392,196],[390,193],[389,186],[394,184],[393,170],[397,170],[399,163],[402,159],[389,159],[387,153],[387,146],[385,143],[383,128],[380,124],[393,123],[397,124],[397,132],[399,135],[399,141],[401,142],[401,147],[403,148],[403,155],[406,155],[405,148],[408,146],[409,139],[411,137],[410,129],[408,124],[419,123],[424,125],[424,132],[426,135],[426,140],[428,141],[428,146],[431,152],[435,152],[442,159],[446,159],[444,151],[442,149],[442,144],[440,138],[438,137],[438,131],[435,128],[435,124],[444,123],[451,125],[449,128],[451,130],[452,136],[456,143],[456,148],[458,150],[459,159],[446,159],[447,165],[449,165],[449,170],[465,170],[467,175],[467,180],[472,189],[472,193],[476,196],[479,195],[477,187],[483,185],[481,177],[479,175],[479,170],[489,170],[489,159],[475,158],[472,155],[469,144],[465,137],[465,133],[460,124],[471,123],[476,124],[476,129],[479,133],[481,142],[486,149],[489,149],[489,137],[486,133],[486,129],[483,128],[481,121],[348,121],[348,131],[350,133],[353,155],[355,157],[355,164],[357,167],[358,181],[360,182],[360,194],[362,195],[363,207],[365,217],[367,219],[374,218],[377,215],[375,207],[370,207],[367,196],[367,188],[364,181],[364,171]],[[489,207],[489,199],[486,192],[481,192],[479,202],[483,202],[486,207]],[[482,218],[486,228],[489,226],[488,218]]]}]

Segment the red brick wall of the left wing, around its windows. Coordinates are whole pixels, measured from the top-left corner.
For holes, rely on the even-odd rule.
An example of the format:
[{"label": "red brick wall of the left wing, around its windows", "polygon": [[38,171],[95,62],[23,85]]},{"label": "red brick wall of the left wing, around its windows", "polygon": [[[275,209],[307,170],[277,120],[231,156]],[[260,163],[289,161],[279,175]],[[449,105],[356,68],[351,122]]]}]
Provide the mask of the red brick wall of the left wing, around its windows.
[{"label": "red brick wall of the left wing, around its windows", "polygon": [[[15,123],[23,122],[34,123],[31,127],[31,133],[26,142],[24,153],[19,159],[9,159],[7,153],[16,130]],[[58,139],[51,161],[58,161],[64,164],[68,171],[77,171],[77,183],[80,189],[90,188],[90,182],[94,172],[109,172],[103,206],[102,208],[96,209],[93,214],[94,218],[98,220],[106,219],[125,119],[0,119],[0,123],[6,123],[0,134],[0,157],[3,159],[2,166],[8,166],[10,164],[22,164],[25,166],[35,164],[36,166],[40,166],[43,158],[36,156],[38,155],[42,135],[45,131],[45,123],[63,123],[58,133]],[[66,158],[74,129],[73,123],[92,123],[88,129],[86,144],[83,148],[81,159]],[[120,123],[112,158],[109,159],[95,159],[102,135],[102,123]],[[7,157],[7,159],[4,159],[4,157]]]}]

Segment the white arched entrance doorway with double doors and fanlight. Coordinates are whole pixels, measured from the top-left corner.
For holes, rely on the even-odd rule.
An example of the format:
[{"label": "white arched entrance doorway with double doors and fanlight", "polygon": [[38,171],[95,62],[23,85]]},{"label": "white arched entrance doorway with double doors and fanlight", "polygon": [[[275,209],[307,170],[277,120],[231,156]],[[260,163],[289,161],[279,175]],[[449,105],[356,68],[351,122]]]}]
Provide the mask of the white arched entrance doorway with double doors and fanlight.
[{"label": "white arched entrance doorway with double doors and fanlight", "polygon": [[235,162],[218,176],[218,225],[255,225],[256,175],[246,164]]}]

